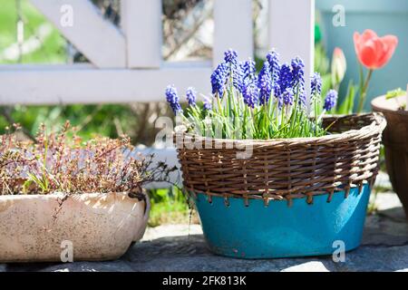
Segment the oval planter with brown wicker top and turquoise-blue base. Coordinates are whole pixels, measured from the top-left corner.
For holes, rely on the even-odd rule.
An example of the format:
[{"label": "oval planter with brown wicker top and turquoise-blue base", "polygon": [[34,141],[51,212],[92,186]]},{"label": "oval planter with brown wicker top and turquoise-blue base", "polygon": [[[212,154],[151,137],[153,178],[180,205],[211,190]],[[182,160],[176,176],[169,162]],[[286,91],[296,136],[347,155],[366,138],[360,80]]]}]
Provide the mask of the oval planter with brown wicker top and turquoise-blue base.
[{"label": "oval planter with brown wicker top and turquoise-blue base", "polygon": [[[334,134],[286,140],[176,134],[184,186],[214,253],[316,256],[332,254],[337,240],[345,250],[359,246],[385,121],[374,113],[324,123],[333,124]],[[202,144],[187,147],[187,138]],[[248,145],[252,153],[238,158]]]}]

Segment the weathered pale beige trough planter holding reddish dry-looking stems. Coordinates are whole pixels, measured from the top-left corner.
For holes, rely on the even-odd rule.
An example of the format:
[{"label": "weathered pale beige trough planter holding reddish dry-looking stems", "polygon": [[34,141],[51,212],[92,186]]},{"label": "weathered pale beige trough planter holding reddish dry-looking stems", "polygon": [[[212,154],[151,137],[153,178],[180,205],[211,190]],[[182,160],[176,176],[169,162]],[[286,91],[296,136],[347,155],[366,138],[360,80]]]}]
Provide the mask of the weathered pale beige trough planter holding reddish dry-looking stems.
[{"label": "weathered pale beige trough planter holding reddish dry-looking stems", "polygon": [[[0,196],[0,262],[111,260],[141,239],[150,202],[127,193]],[[65,261],[64,261],[65,262]]]}]

